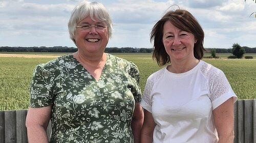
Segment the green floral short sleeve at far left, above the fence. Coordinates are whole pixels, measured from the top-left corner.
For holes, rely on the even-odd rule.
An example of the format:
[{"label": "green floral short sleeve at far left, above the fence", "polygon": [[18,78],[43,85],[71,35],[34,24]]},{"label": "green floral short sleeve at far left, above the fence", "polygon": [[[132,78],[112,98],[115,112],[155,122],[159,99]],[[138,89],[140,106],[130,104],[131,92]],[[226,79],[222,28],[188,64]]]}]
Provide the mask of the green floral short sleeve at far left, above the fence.
[{"label": "green floral short sleeve at far left, above the fence", "polygon": [[30,85],[30,107],[45,107],[53,103],[53,80],[51,70],[40,64],[33,71]]}]

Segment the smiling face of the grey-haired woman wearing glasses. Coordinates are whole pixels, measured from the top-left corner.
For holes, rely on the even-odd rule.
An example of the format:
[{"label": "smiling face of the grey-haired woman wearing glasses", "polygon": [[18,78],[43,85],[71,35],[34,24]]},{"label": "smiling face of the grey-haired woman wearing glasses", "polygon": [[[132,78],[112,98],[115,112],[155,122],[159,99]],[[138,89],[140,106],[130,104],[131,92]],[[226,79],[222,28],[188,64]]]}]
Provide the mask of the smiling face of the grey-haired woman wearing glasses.
[{"label": "smiling face of the grey-haired woman wearing glasses", "polygon": [[[87,16],[81,20],[77,25],[104,25],[105,22],[92,20],[90,16]],[[81,27],[76,27],[75,30],[75,43],[79,52],[84,53],[103,53],[106,45],[109,42],[108,27],[103,30],[98,30],[96,27],[90,27],[88,30],[84,30]]]}]

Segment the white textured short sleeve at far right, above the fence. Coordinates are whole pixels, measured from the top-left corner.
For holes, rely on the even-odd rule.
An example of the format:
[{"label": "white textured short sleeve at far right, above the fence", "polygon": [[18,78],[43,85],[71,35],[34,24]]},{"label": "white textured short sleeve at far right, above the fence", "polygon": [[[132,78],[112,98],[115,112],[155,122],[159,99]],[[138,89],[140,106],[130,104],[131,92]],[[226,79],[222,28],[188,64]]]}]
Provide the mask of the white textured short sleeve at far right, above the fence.
[{"label": "white textured short sleeve at far right, above the fence", "polygon": [[237,96],[233,92],[223,71],[218,69],[212,72],[208,82],[212,109],[215,109],[231,97],[233,97],[233,102],[237,101]]}]

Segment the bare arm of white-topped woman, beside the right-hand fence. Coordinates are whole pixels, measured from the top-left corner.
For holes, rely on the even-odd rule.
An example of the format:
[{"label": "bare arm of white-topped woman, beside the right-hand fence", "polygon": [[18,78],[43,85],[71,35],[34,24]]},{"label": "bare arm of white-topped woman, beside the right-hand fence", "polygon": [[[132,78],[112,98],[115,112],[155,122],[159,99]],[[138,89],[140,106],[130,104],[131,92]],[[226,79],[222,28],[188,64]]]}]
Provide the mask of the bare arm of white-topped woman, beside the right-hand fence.
[{"label": "bare arm of white-topped woman, beside the right-hand fence", "polygon": [[215,126],[219,136],[218,143],[233,143],[233,98],[229,98],[227,101],[215,108],[213,113]]}]

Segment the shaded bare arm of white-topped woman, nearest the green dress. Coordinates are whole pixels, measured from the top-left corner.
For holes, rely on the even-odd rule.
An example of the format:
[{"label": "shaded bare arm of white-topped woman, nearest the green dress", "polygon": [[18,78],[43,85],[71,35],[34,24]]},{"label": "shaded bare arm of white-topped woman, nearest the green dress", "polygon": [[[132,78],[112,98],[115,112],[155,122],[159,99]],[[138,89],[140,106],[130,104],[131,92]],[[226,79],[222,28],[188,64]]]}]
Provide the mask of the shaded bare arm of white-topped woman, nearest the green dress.
[{"label": "shaded bare arm of white-topped woman, nearest the green dress", "polygon": [[144,123],[141,130],[141,143],[153,142],[153,132],[156,127],[156,123],[153,119],[152,113],[144,110]]}]

